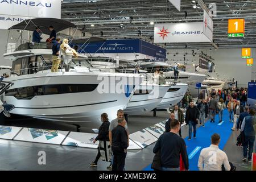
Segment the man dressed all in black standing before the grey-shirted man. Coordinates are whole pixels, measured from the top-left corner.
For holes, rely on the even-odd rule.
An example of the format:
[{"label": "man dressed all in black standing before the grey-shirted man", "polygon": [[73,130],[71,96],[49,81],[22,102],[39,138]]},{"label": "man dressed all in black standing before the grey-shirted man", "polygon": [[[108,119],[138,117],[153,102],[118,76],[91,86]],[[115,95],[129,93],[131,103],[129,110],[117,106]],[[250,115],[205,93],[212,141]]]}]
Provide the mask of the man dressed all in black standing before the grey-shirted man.
[{"label": "man dressed all in black standing before the grey-shirted man", "polygon": [[117,122],[117,127],[112,130],[112,152],[114,155],[112,171],[123,171],[128,147],[126,121],[125,118],[121,118]]}]

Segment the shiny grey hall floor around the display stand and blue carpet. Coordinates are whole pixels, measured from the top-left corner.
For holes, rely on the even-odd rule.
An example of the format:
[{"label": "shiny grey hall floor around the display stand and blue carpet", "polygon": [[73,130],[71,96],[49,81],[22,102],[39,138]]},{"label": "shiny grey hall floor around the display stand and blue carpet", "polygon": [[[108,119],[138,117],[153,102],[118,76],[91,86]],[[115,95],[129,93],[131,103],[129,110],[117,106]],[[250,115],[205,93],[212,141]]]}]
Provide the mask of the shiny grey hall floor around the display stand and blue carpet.
[{"label": "shiny grey hall floor around the display stand and blue carpet", "polygon": [[[158,111],[157,117],[152,117],[152,113],[129,118],[130,133],[144,129],[155,123],[159,123],[168,118],[166,111]],[[20,122],[20,123],[19,123]],[[15,126],[28,126],[45,129],[71,130],[75,131],[75,126],[63,123],[47,123],[42,121],[15,121],[6,123]],[[89,126],[82,126],[81,131],[86,131]],[[181,129],[183,138],[187,137],[188,128]],[[243,163],[242,148],[236,143],[238,132],[229,138],[224,151],[229,160],[237,166],[237,170],[250,170],[250,164]],[[152,162],[154,154],[152,148],[154,144],[143,150],[129,151],[126,158],[126,170],[141,171]],[[236,148],[236,150],[234,150]],[[38,164],[38,152],[46,152],[46,165]],[[18,142],[13,140],[0,140],[0,170],[106,170],[109,163],[99,161],[98,168],[90,167],[88,164],[94,160],[96,150],[89,148],[78,148],[69,146],[58,146],[53,144],[39,144],[30,142]]]}]

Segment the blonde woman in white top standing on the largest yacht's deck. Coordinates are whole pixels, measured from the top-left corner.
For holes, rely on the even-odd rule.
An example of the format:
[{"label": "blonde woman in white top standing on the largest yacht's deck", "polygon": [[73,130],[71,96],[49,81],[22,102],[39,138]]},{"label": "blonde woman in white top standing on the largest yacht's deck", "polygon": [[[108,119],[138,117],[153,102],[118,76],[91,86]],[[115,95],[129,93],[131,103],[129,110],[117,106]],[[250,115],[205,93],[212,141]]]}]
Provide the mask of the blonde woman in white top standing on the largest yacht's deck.
[{"label": "blonde woman in white top standing on the largest yacht's deck", "polygon": [[63,43],[60,45],[60,53],[59,53],[59,59],[61,58],[61,55],[63,55],[63,64],[66,64],[65,71],[68,72],[70,68],[70,62],[72,61],[72,56],[77,57],[77,52],[75,49],[71,48],[68,45],[68,39],[64,39]]}]

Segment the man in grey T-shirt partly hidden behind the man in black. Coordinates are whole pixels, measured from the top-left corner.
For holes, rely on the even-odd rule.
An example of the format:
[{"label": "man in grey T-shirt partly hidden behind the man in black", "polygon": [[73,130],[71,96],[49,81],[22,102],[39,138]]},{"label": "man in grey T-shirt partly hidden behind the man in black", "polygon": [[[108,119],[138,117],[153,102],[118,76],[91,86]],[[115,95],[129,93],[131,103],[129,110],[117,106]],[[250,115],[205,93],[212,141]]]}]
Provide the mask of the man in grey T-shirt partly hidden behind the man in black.
[{"label": "man in grey T-shirt partly hidden behind the man in black", "polygon": [[[113,119],[111,122],[110,122],[110,126],[109,126],[109,142],[110,142],[110,146],[112,146],[112,130],[118,126],[118,119],[122,119],[123,118],[123,110],[122,109],[119,109],[117,111],[117,118]],[[129,146],[129,132],[128,132],[128,127],[127,127],[127,123],[125,125],[125,130],[126,130],[126,133],[127,133],[127,139],[128,139],[128,146]],[[112,156],[112,164],[113,164],[113,161],[114,161],[114,156]],[[107,167],[107,169],[112,169],[112,164],[110,164],[110,166]]]}]

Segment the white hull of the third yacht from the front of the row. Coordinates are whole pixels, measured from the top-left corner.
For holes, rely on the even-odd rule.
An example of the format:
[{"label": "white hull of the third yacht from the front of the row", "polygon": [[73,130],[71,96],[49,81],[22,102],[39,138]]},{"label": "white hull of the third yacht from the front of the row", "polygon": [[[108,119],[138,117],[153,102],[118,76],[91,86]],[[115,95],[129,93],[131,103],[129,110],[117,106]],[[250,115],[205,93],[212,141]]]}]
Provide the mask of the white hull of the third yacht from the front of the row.
[{"label": "white hull of the third yacht from the front of the row", "polygon": [[176,85],[171,85],[156,109],[168,109],[169,107],[178,104],[184,97],[187,89],[188,84],[177,83]]}]

